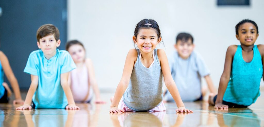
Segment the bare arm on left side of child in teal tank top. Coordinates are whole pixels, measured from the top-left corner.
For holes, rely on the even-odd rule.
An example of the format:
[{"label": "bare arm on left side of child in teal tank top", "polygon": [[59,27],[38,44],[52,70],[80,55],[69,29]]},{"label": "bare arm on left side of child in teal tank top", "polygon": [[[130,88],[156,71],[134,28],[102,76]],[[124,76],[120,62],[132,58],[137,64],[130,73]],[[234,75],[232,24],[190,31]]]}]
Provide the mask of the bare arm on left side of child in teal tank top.
[{"label": "bare arm on left side of child in teal tank top", "polygon": [[237,51],[237,45],[231,45],[227,48],[227,53],[225,55],[225,65],[224,71],[220,78],[219,88],[218,88],[218,95],[215,101],[215,109],[228,109],[227,105],[223,105],[223,97],[225,90],[227,89],[227,84],[229,82],[230,73],[232,70],[232,62],[235,52]]}]

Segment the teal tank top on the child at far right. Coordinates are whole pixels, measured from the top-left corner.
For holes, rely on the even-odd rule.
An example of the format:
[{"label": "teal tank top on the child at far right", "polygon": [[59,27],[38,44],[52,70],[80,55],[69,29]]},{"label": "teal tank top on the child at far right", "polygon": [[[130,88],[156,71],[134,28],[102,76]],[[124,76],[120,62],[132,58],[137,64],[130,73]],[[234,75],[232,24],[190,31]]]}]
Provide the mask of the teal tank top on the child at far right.
[{"label": "teal tank top on the child at far right", "polygon": [[262,60],[257,45],[254,45],[253,58],[249,63],[244,61],[242,48],[238,45],[223,100],[237,105],[253,104],[260,96],[262,74]]}]

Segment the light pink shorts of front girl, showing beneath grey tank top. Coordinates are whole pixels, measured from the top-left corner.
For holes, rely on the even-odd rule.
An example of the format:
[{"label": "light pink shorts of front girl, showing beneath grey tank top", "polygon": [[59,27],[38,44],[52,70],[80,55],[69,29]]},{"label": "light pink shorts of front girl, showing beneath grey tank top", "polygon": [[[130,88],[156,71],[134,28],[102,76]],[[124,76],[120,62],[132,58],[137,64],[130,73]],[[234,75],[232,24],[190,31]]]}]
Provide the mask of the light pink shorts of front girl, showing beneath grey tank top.
[{"label": "light pink shorts of front girl, showing beneath grey tank top", "polygon": [[[123,97],[122,97],[123,98]],[[132,109],[129,109],[128,106],[126,106],[126,104],[124,103],[123,99],[121,98],[117,108],[118,109],[124,109],[125,111],[134,111]],[[159,104],[157,107],[154,107],[153,109],[149,110],[149,112],[153,112],[153,111],[166,111],[166,107],[163,103],[163,101],[161,102],[161,104]]]}]

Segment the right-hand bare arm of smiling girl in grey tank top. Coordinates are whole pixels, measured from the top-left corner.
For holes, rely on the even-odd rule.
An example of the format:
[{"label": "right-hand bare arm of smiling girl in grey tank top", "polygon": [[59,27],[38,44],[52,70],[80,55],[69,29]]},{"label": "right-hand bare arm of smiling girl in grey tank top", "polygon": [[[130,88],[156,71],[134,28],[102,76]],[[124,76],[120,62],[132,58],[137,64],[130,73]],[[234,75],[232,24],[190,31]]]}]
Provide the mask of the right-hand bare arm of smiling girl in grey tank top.
[{"label": "right-hand bare arm of smiling girl in grey tank top", "polygon": [[173,99],[175,100],[176,105],[178,107],[178,109],[176,109],[176,111],[177,112],[193,112],[191,110],[186,109],[182,100],[181,100],[180,93],[177,89],[175,82],[173,81],[172,76],[171,76],[171,71],[169,68],[169,63],[168,63],[168,59],[167,59],[165,51],[162,49],[158,49],[157,54],[158,54],[158,58],[159,58],[159,61],[161,64],[161,71],[162,71],[162,74],[164,77],[165,85],[168,88],[169,92],[171,93],[171,95],[172,95]]}]

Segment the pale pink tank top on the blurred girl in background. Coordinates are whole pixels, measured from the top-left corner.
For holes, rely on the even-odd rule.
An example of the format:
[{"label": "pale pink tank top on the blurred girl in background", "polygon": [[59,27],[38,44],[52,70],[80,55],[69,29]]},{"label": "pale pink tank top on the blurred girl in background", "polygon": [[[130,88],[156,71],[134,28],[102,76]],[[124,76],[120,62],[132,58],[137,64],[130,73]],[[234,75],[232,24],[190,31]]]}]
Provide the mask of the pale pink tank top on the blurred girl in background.
[{"label": "pale pink tank top on the blurred girl in background", "polygon": [[80,69],[73,69],[70,73],[73,99],[75,102],[83,101],[89,91],[88,98],[85,101],[92,99],[93,90],[88,83],[88,70],[86,65]]}]

